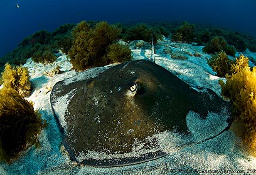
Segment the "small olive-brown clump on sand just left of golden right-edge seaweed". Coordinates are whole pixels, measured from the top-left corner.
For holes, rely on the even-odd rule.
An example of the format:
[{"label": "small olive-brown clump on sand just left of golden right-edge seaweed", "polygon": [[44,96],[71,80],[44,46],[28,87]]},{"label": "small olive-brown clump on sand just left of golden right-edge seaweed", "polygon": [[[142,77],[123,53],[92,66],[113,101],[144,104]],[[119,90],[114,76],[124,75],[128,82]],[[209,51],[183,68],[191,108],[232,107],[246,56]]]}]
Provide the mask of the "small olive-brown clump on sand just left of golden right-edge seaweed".
[{"label": "small olive-brown clump on sand just left of golden right-edge seaweed", "polygon": [[211,58],[207,59],[207,63],[217,73],[217,76],[225,77],[226,74],[232,74],[231,66],[234,61],[229,59],[224,51],[211,55]]}]

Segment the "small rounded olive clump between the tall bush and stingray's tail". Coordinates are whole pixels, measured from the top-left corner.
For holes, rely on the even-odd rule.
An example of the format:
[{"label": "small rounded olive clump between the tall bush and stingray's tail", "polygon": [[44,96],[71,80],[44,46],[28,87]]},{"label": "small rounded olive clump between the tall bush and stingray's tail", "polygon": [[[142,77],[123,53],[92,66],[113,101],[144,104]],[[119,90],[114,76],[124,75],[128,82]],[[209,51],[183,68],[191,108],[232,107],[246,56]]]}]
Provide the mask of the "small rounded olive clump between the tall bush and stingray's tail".
[{"label": "small rounded olive clump between the tall bush and stingray's tail", "polygon": [[132,52],[129,46],[125,46],[119,43],[114,43],[107,49],[107,54],[105,56],[105,61],[107,64],[116,62],[125,62],[132,59]]}]

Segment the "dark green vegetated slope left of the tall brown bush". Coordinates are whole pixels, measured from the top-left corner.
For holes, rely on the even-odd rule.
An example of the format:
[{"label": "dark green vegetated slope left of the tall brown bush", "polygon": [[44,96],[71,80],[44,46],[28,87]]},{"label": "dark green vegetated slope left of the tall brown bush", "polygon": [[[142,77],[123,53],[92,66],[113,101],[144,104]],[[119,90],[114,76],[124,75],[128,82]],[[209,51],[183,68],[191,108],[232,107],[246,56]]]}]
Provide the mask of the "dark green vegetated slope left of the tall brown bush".
[{"label": "dark green vegetated slope left of the tall brown bush", "polygon": [[[50,63],[56,59],[53,58],[56,50],[60,49],[63,53],[67,53],[72,46],[73,26],[75,25],[65,24],[53,32],[43,30],[25,37],[14,51],[0,59],[0,72],[4,70],[6,63],[19,66],[26,63],[28,58],[33,58],[38,63]],[[46,54],[45,51],[52,54]],[[45,56],[42,56],[43,53]]]}]

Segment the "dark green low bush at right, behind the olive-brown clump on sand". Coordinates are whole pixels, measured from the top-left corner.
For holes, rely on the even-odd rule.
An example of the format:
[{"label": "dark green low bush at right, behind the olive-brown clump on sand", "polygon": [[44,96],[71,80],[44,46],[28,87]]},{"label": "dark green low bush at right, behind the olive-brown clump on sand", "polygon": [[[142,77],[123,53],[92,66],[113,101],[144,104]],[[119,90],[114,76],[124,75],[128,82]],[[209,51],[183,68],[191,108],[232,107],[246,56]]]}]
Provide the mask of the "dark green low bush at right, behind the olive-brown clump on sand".
[{"label": "dark green low bush at right, behind the olive-brown clump on sand", "polygon": [[237,52],[234,46],[228,45],[227,41],[222,36],[215,36],[211,41],[205,44],[203,51],[208,54],[214,54],[216,52],[225,51],[230,56],[235,56]]}]

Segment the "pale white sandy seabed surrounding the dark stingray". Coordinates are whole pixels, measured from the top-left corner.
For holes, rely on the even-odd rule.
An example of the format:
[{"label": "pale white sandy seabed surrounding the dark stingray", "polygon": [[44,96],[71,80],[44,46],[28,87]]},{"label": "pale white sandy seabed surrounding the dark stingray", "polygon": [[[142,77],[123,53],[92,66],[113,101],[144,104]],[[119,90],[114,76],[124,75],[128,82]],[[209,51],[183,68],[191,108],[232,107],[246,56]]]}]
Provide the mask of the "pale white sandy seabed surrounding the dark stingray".
[{"label": "pale white sandy seabed surrounding the dark stingray", "polygon": [[[220,86],[215,73],[206,63],[208,54],[202,52],[201,46],[191,44],[179,44],[164,38],[155,47],[156,63],[176,74],[189,84],[210,88],[220,96]],[[166,50],[180,51],[188,57],[187,60],[172,59]],[[134,59],[150,58],[150,50],[132,50]],[[198,53],[201,56],[195,57]],[[256,60],[254,53],[245,53]],[[53,77],[50,72],[56,66],[61,67],[62,74]],[[13,164],[0,163],[0,174],[245,174],[254,170],[256,173],[256,158],[248,155],[243,149],[240,139],[232,131],[225,131],[216,138],[203,143],[189,143],[189,138],[173,133],[161,133],[159,139],[161,146],[169,153],[163,158],[147,163],[116,168],[93,168],[77,165],[70,160],[67,154],[61,154],[61,134],[50,108],[50,91],[54,84],[60,80],[77,75],[72,71],[72,65],[66,56],[60,56],[55,63],[44,65],[36,64],[28,60],[24,65],[29,68],[31,81],[35,91],[28,98],[35,103],[35,109],[39,110],[42,117],[49,125],[39,136],[41,148],[30,148],[23,153],[18,161]],[[93,69],[92,69],[93,70]],[[90,70],[90,71],[92,71]],[[93,71],[92,71],[93,75]],[[225,113],[220,120],[215,119],[215,114],[208,115],[208,122],[202,123],[200,119],[193,120],[191,113],[187,117],[190,130],[194,133],[194,139],[202,141],[203,133],[208,136],[214,131],[213,124],[225,128]],[[250,173],[250,172],[248,172]]]}]

